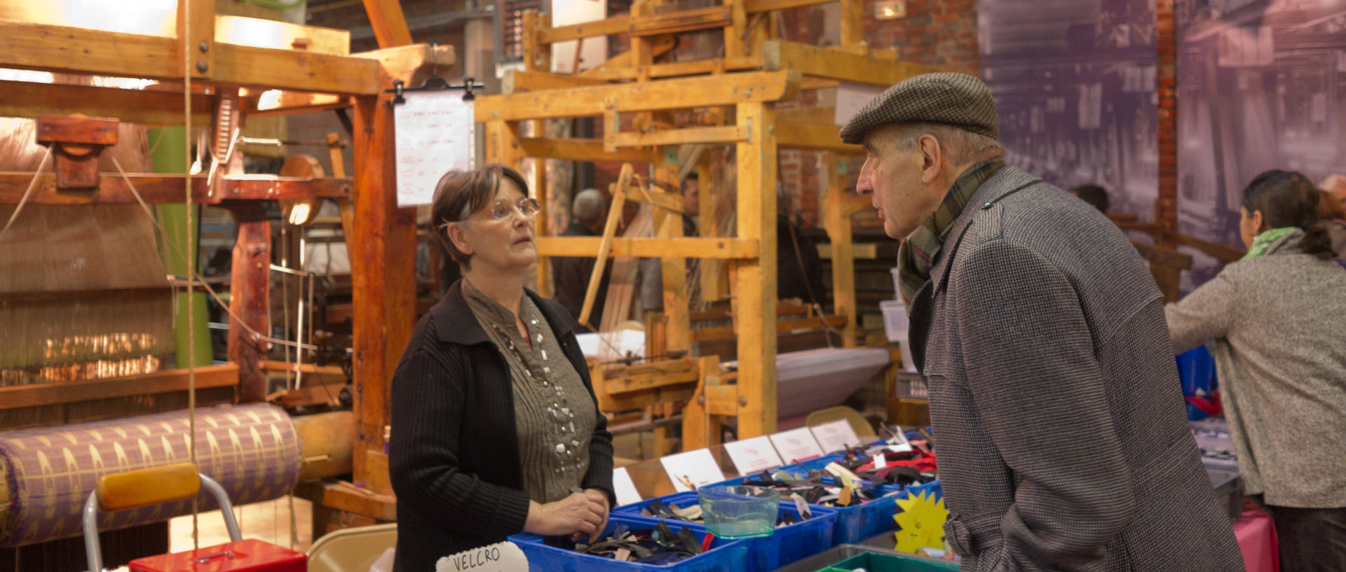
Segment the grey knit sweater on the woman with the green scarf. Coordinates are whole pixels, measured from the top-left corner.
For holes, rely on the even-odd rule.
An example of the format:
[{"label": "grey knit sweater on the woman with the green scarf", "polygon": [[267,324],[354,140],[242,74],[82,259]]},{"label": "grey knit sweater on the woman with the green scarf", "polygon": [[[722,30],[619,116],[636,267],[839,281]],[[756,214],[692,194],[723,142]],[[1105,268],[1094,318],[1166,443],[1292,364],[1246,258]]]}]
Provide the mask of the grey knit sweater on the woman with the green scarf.
[{"label": "grey knit sweater on the woman with the green scarf", "polygon": [[1303,231],[1166,306],[1174,349],[1214,340],[1225,416],[1248,494],[1346,506],[1346,269],[1299,248]]}]

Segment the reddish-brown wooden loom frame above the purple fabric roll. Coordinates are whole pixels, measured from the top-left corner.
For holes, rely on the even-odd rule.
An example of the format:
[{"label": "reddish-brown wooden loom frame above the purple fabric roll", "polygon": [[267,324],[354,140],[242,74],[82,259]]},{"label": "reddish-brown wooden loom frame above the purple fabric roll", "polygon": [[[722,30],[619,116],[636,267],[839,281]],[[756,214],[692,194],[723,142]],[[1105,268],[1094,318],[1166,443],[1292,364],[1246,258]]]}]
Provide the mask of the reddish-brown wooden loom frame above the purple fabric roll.
[{"label": "reddish-brown wooden loom frame above the purple fabric roll", "polygon": [[[214,0],[182,0],[175,36],[121,34],[39,21],[0,19],[0,68],[24,68],[90,77],[144,78],[145,89],[0,82],[5,97],[0,115],[42,117],[57,124],[69,113],[114,117],[148,125],[210,125],[211,141],[227,141],[230,126],[249,115],[293,114],[353,107],[354,179],[241,175],[221,165],[218,172],[183,175],[89,173],[85,181],[40,173],[35,192],[24,199],[32,172],[0,173],[0,204],[135,204],[127,180],[147,203],[182,203],[229,209],[237,222],[230,282],[229,365],[197,368],[197,387],[226,388],[226,400],[265,397],[267,341],[249,336],[241,324],[267,330],[271,224],[264,200],[312,201],[335,199],[342,207],[351,248],[354,278],[354,368],[358,440],[354,486],[308,490],[315,520],[323,510],[350,512],[365,521],[396,518],[384,451],[389,423],[388,389],[413,326],[415,211],[396,205],[392,98],[393,81],[419,85],[432,67],[455,63],[452,47],[411,44],[396,1],[366,0],[380,46],[349,54],[349,35],[269,20],[256,24],[281,34],[267,39],[279,46],[230,40],[225,30],[250,26],[248,19],[217,16]],[[190,17],[183,17],[190,13]],[[184,23],[187,26],[184,26]],[[339,42],[331,42],[338,34]],[[188,60],[183,60],[184,54]],[[191,82],[190,114],[184,114],[186,78]],[[279,97],[262,98],[268,90]],[[265,102],[265,103],[264,103]],[[184,117],[186,115],[186,117]],[[86,120],[77,124],[87,125]],[[87,144],[78,137],[63,140]],[[62,172],[58,165],[58,173]],[[139,377],[109,377],[70,384],[0,388],[0,410],[51,407],[110,397],[136,397],[187,389],[184,369]],[[180,407],[180,406],[179,406]],[[104,412],[106,416],[106,412]],[[61,418],[62,422],[74,419]],[[315,530],[320,534],[323,530]]]}]

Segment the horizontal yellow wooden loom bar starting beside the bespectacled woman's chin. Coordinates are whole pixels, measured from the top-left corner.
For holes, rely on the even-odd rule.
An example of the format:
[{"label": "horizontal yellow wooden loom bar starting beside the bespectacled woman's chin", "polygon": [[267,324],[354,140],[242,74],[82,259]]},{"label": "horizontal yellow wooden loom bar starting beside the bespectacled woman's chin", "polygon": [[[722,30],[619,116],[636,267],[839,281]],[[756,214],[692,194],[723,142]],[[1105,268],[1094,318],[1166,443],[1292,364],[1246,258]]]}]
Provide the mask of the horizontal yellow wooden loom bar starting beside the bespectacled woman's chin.
[{"label": "horizontal yellow wooden loom bar starting beside the bespectacled woman's chin", "polygon": [[[542,256],[592,256],[598,236],[538,236],[537,254]],[[612,256],[639,258],[752,258],[758,242],[732,238],[623,238],[612,239]]]}]

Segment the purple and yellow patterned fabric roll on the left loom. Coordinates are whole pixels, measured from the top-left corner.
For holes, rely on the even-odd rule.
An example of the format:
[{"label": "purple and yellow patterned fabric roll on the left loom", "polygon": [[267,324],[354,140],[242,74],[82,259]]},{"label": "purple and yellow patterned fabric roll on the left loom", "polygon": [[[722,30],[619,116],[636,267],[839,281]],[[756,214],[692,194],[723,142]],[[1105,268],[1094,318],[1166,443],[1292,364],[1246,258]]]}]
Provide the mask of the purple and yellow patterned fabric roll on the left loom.
[{"label": "purple and yellow patterned fabric roll on the left loom", "polygon": [[[0,432],[0,546],[81,536],[81,510],[98,477],[191,461],[187,411]],[[299,435],[284,410],[268,404],[197,411],[197,466],[234,505],[288,494],[299,478]],[[4,487],[0,486],[0,490]],[[215,509],[201,494],[199,510]],[[191,513],[191,499],[101,513],[98,528],[120,529]]]}]

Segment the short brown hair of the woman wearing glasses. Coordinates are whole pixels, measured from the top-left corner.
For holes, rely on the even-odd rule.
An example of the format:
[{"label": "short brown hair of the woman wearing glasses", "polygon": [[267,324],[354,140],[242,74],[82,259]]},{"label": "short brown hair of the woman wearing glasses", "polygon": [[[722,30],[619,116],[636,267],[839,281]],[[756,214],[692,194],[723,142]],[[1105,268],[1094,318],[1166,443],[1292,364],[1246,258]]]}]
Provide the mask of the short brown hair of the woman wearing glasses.
[{"label": "short brown hair of the woman wearing glasses", "polygon": [[447,226],[467,220],[471,213],[486,208],[499,192],[501,177],[514,181],[518,189],[528,196],[528,183],[524,183],[524,176],[518,171],[499,164],[472,171],[454,169],[439,177],[439,183],[435,184],[435,199],[431,201],[429,209],[431,227],[454,262],[464,269],[470,267],[471,256],[459,251],[454,246],[454,240],[448,239]]}]

